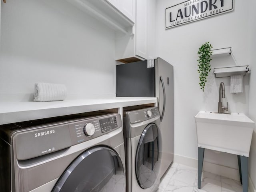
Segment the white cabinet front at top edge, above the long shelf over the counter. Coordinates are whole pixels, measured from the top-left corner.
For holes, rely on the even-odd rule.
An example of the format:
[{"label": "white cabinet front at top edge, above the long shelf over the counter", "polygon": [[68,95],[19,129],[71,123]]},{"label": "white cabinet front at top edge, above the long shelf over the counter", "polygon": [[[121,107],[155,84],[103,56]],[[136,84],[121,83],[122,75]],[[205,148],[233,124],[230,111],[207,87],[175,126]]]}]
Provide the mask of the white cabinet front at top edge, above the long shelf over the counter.
[{"label": "white cabinet front at top edge, above the long shelf over the counter", "polygon": [[124,16],[135,23],[136,16],[136,0],[106,0],[117,10],[119,10]]}]

